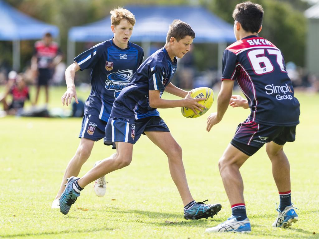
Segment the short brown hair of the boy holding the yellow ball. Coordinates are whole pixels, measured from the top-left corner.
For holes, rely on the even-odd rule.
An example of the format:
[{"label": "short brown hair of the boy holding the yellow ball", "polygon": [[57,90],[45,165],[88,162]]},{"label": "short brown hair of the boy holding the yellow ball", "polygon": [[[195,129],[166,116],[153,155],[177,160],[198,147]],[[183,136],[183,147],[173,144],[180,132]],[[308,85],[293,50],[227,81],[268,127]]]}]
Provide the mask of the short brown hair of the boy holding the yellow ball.
[{"label": "short brown hair of the boy holding the yellow ball", "polygon": [[191,38],[195,38],[195,32],[186,22],[182,22],[179,19],[175,19],[171,25],[169,25],[169,29],[167,32],[166,42],[169,42],[171,37],[174,37],[177,41],[183,39],[186,36],[190,36]]}]

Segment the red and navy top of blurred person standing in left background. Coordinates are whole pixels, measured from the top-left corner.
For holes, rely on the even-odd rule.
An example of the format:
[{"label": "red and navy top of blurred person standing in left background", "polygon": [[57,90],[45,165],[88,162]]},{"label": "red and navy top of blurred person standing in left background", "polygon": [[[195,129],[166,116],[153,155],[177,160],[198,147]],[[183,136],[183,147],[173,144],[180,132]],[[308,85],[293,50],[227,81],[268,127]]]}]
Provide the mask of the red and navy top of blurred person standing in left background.
[{"label": "red and navy top of blurred person standing in left background", "polygon": [[48,46],[43,41],[37,41],[34,44],[34,55],[38,59],[38,68],[49,68],[58,54],[62,53],[56,42],[51,42]]}]

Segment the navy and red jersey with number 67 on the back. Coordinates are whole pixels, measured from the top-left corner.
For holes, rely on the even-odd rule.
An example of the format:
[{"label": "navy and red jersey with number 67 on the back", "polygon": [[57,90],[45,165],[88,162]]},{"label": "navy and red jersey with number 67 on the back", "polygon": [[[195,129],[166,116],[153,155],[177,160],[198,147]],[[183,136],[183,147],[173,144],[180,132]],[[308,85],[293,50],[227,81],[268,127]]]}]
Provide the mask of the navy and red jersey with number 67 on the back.
[{"label": "navy and red jersey with number 67 on the back", "polygon": [[237,81],[249,103],[249,121],[273,126],[299,124],[299,102],[284,56],[270,41],[248,36],[227,47],[222,80]]}]

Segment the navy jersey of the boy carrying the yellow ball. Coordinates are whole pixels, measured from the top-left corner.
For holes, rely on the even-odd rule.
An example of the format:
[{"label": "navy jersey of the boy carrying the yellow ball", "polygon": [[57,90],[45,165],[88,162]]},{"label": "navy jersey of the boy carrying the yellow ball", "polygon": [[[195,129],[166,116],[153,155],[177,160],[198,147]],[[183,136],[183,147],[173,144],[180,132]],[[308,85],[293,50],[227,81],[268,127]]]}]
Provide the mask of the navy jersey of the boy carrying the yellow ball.
[{"label": "navy jersey of the boy carrying the yellow ball", "polygon": [[148,57],[114,101],[111,117],[137,120],[159,116],[159,112],[150,107],[148,91],[159,90],[161,97],[176,67],[176,58],[172,62],[165,47]]}]

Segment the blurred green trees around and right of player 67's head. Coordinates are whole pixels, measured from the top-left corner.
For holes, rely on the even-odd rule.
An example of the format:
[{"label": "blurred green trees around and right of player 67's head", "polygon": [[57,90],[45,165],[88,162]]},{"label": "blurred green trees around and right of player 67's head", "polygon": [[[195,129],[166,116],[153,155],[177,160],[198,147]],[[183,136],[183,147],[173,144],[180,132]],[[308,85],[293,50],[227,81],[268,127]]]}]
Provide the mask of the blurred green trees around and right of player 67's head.
[{"label": "blurred green trees around and right of player 67's head", "polygon": [[[232,14],[241,0],[201,0],[209,10],[225,21],[234,24]],[[308,3],[301,0],[252,0],[265,11],[263,30],[259,34],[275,44],[284,54],[286,62],[304,66],[307,21],[302,11]],[[296,10],[297,9],[297,10]]]}]

